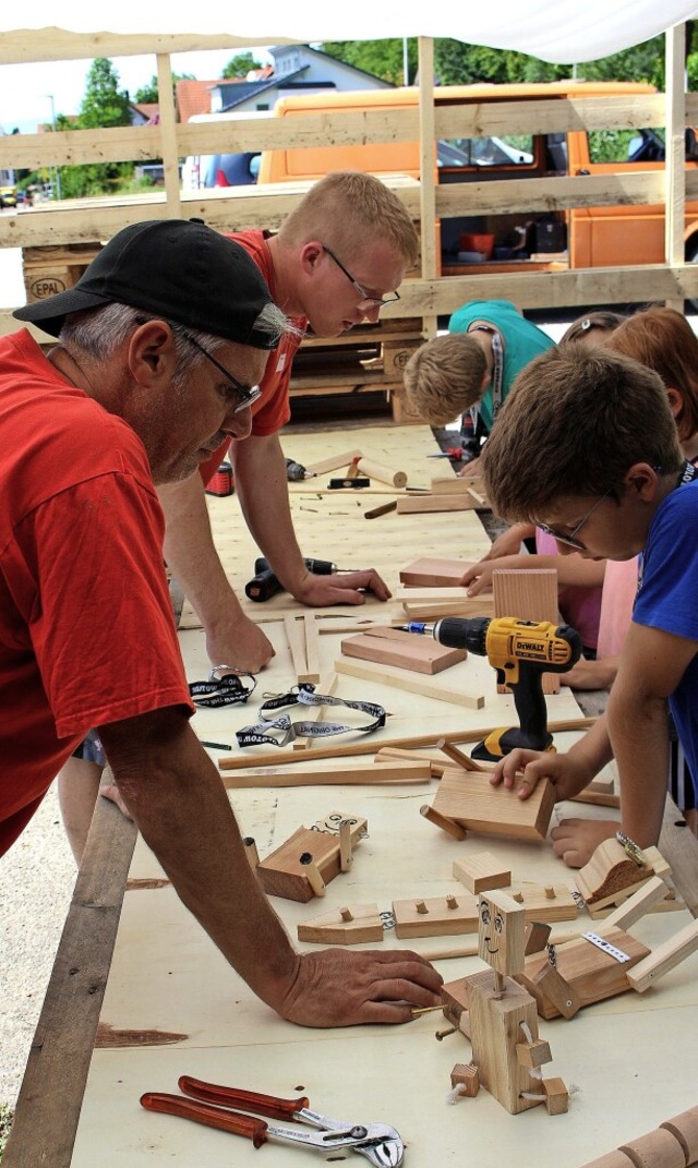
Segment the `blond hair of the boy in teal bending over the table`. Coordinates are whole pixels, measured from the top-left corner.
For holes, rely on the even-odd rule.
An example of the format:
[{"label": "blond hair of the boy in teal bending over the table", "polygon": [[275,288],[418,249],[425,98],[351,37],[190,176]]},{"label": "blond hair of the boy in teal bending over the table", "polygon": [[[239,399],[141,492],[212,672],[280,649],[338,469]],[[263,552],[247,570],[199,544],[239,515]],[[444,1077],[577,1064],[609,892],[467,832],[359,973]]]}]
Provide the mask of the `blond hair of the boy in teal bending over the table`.
[{"label": "blond hair of the boy in teal bending over the table", "polygon": [[405,392],[413,410],[433,426],[445,426],[482,397],[484,350],[467,333],[427,341],[405,366]]}]

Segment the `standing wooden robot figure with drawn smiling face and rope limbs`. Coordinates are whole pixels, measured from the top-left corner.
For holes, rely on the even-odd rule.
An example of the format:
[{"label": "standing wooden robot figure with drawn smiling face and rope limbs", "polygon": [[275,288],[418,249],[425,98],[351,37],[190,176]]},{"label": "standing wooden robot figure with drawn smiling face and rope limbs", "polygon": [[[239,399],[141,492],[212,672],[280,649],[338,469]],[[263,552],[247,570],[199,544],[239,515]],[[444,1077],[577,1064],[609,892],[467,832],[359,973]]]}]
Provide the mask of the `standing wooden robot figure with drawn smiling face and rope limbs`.
[{"label": "standing wooden robot figure with drawn smiling face and rope limbs", "polygon": [[538,1037],[536,1001],[512,978],[524,964],[525,910],[501,891],[482,894],[479,909],[477,954],[491,968],[442,990],[444,1013],[473,1045],[472,1064],[453,1069],[452,1085],[476,1094],[482,1084],[514,1115],[542,1103],[549,1114],[566,1112],[565,1084],[539,1071],[552,1056]]}]

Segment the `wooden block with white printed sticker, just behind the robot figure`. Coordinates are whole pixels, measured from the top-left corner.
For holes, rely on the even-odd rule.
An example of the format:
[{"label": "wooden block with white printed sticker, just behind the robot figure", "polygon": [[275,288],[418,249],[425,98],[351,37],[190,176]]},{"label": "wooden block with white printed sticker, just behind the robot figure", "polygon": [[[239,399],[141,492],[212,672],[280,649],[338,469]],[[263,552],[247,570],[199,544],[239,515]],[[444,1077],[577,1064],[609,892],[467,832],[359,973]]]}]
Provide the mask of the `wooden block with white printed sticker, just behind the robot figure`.
[{"label": "wooden block with white printed sticker, just behind the robot figure", "polygon": [[[610,929],[603,933],[603,938],[627,953],[629,960],[616,961],[584,937],[554,946],[557,972],[571,987],[581,1007],[626,993],[630,986],[629,971],[650,952],[647,945],[621,929]],[[547,953],[533,953],[526,958],[523,973],[516,974],[516,980],[536,999],[540,1017],[553,1018],[561,1010],[552,1004],[536,980],[546,968],[551,968]]]}]

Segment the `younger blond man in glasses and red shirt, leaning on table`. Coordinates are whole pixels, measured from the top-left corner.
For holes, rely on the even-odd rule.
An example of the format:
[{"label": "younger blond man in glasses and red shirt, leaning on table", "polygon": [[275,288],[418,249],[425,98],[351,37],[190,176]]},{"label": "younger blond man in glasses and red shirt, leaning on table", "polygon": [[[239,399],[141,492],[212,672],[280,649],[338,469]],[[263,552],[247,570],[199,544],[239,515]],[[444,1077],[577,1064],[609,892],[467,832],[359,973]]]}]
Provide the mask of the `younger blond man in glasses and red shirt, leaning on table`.
[{"label": "younger blond man in glasses and red shirt, leaning on table", "polygon": [[[362,604],[360,590],[386,600],[372,569],[313,576],[293,530],[279,430],[291,416],[291,366],[302,333],[340,336],[378,320],[399,299],[396,288],[418,256],[414,225],[397,195],[369,174],[337,172],[309,190],[278,235],[231,236],[251,255],[271,293],[301,331],[287,336],[267,362],[261,397],[252,406],[252,432],[231,443],[236,493],[250,531],[284,588],[308,605]],[[209,464],[217,470],[218,457]],[[273,655],[260,626],[243,613],[211,540],[200,477],[161,491],[167,520],[165,557],[207,633],[212,665],[257,673]]]}]

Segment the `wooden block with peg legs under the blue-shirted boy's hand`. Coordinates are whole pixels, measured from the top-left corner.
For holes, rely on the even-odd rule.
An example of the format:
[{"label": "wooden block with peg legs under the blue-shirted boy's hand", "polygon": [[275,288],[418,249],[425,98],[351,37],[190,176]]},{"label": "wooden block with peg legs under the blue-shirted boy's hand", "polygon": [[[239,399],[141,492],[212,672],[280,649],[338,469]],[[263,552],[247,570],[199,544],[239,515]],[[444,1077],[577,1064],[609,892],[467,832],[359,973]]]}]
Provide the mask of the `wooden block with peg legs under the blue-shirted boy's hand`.
[{"label": "wooden block with peg legs under the blue-shirted boy's hand", "polygon": [[481,835],[508,835],[519,840],[544,840],[554,806],[551,783],[538,783],[530,799],[512,790],[493,787],[486,771],[445,771],[432,804],[434,811]]}]

